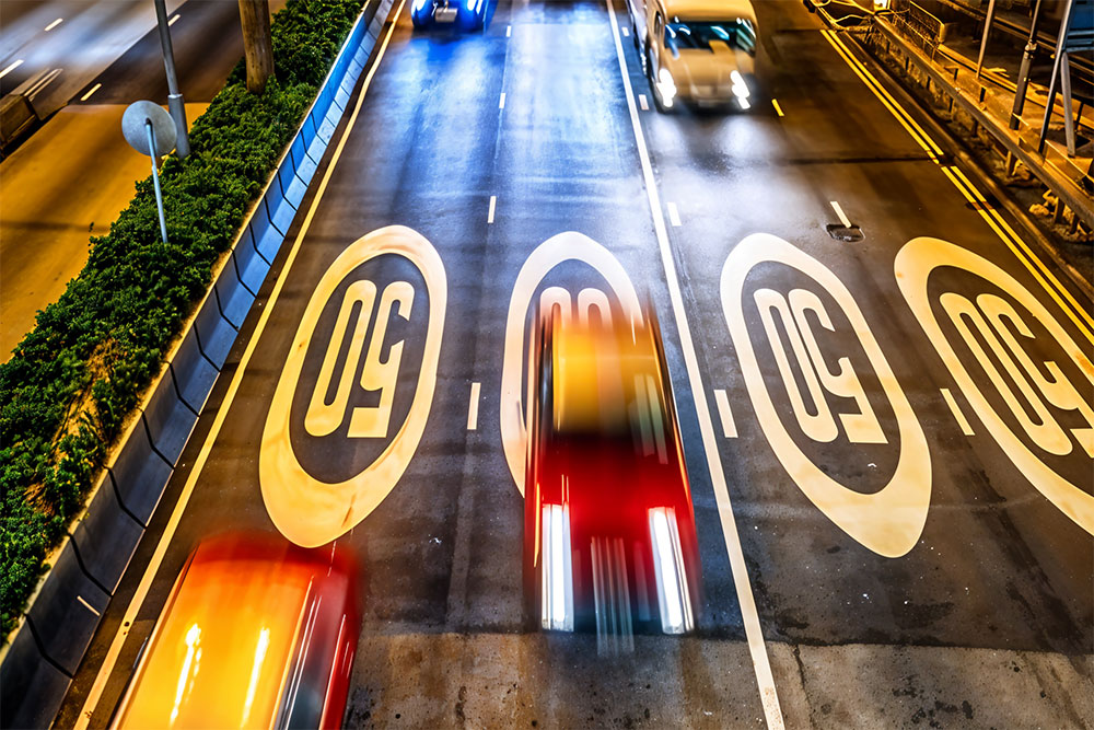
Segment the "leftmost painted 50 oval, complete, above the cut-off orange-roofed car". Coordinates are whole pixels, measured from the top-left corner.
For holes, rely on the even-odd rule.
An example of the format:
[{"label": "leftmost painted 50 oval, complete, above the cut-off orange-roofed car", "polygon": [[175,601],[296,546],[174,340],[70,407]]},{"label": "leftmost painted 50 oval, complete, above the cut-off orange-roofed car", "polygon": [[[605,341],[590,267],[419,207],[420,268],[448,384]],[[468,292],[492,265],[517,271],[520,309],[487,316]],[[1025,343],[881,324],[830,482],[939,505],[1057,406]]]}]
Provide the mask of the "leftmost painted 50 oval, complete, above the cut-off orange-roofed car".
[{"label": "leftmost painted 50 oval, complete, above the cut-off orange-roofed car", "polygon": [[[319,317],[341,286],[360,276],[363,264],[385,255],[412,264],[424,280],[424,292],[416,294],[408,281],[377,286],[368,278],[357,278],[339,297],[333,328],[319,333]],[[286,358],[258,456],[263,500],[286,537],[304,546],[328,543],[368,517],[395,488],[418,449],[433,402],[446,300],[441,257],[419,233],[399,225],[359,239],[323,275]],[[408,364],[418,366],[414,396],[406,418],[392,434],[392,406],[406,343],[391,341],[388,329],[392,323],[409,321],[414,312],[426,308],[421,360]],[[316,349],[322,354],[318,374],[309,382],[301,378],[309,348],[314,337],[324,335],[326,341],[317,343],[322,347]],[[307,438],[342,439],[339,443],[389,441],[372,463],[349,478],[317,478],[292,445],[292,405],[298,391],[306,396],[302,431]],[[376,403],[354,405],[351,396],[359,391],[377,393]]]}]

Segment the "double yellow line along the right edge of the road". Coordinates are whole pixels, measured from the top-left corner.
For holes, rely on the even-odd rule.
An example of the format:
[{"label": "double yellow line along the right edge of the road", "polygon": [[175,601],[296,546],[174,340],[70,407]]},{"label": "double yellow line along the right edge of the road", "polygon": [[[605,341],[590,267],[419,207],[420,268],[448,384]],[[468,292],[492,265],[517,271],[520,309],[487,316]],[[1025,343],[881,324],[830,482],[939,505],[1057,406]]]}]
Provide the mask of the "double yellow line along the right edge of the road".
[{"label": "double yellow line along the right edge of the road", "polygon": [[1068,318],[1071,320],[1086,339],[1094,344],[1094,315],[1090,308],[1083,306],[1074,298],[1067,287],[1064,287],[1048,266],[1033,252],[1033,250],[1014,232],[1014,229],[1006,223],[1003,217],[994,207],[988,205],[984,195],[976,185],[957,166],[943,164],[944,154],[939,146],[931,139],[910,114],[900,105],[896,99],[877,81],[877,79],[866,69],[865,65],[856,58],[847,45],[839,36],[830,30],[823,30],[821,34],[836,49],[836,53],[851,68],[856,76],[870,89],[889,113],[900,123],[900,125],[911,135],[916,143],[923,148],[938,164],[946,178],[953,183],[954,187],[968,200],[974,210],[988,223],[988,227],[996,232],[996,235],[1006,245],[1014,256],[1033,275],[1034,279],[1048,292],[1049,297],[1063,310]]}]

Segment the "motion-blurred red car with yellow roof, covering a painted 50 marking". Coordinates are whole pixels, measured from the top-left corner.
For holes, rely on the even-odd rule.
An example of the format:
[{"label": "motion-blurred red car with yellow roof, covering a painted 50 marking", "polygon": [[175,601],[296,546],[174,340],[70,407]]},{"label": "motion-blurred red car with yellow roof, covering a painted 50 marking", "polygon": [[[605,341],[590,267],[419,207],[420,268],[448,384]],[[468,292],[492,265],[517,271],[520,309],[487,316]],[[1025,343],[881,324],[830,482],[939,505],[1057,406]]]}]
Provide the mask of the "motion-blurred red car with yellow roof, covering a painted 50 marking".
[{"label": "motion-blurred red car with yellow roof, covering a painted 50 marking", "polygon": [[644,322],[613,326],[552,308],[534,333],[526,615],[545,629],[595,630],[601,648],[605,638],[628,648],[636,630],[689,631],[700,603],[676,408],[644,309]]}]

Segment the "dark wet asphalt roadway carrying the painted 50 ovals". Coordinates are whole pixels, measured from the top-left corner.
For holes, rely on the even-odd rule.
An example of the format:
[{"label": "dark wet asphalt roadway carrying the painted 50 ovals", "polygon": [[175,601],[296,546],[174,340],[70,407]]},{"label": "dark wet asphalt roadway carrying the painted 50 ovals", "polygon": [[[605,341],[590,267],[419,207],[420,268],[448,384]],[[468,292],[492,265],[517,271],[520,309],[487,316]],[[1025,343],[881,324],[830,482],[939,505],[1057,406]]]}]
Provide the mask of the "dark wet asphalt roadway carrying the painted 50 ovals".
[{"label": "dark wet asphalt roadway carrying the painted 50 ovals", "polygon": [[[338,537],[364,606],[348,727],[1094,723],[1091,302],[880,71],[799,3],[757,14],[754,111],[661,115],[621,5],[501,2],[467,36],[404,10],[58,727],[85,704],[105,726],[202,536],[276,529],[269,424],[338,483],[422,418],[422,383],[412,457]],[[324,277],[387,225],[428,240],[446,296],[391,254]],[[319,438],[303,415],[360,279],[415,292],[384,335],[404,343],[388,439]],[[533,302],[631,290],[662,323],[705,602],[694,636],[602,658],[595,637],[524,629],[507,450]]]}]

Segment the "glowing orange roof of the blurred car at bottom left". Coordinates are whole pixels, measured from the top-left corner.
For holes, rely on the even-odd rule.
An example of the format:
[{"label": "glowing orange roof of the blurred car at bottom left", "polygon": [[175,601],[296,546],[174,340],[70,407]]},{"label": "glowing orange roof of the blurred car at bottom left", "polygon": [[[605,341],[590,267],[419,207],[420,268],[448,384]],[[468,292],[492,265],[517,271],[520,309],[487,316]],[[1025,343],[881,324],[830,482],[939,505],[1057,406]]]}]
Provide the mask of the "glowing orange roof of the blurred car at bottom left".
[{"label": "glowing orange roof of the blurred car at bottom left", "polygon": [[195,552],[119,727],[272,725],[313,581],[327,566],[243,542]]}]

